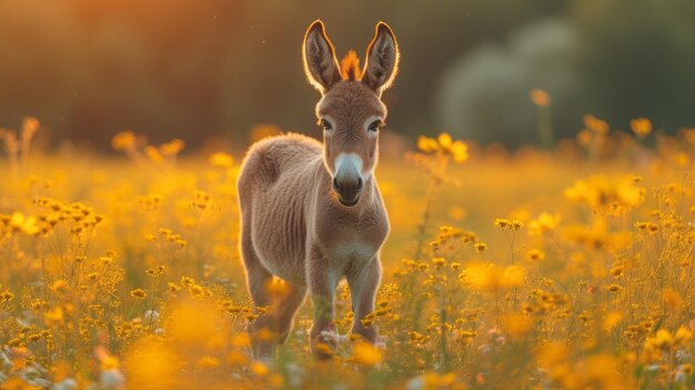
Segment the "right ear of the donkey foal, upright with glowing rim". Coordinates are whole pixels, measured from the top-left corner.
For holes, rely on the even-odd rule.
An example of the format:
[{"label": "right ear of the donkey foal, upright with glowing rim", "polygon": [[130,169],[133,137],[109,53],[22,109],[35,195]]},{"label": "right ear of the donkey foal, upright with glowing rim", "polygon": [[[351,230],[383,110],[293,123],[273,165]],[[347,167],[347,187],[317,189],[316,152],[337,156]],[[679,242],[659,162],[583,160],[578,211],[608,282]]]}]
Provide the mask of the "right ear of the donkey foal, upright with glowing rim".
[{"label": "right ear of the donkey foal, upright with glowing rim", "polygon": [[399,43],[389,24],[379,22],[374,39],[366,48],[366,63],[362,82],[367,84],[377,94],[391,87],[399,72]]}]

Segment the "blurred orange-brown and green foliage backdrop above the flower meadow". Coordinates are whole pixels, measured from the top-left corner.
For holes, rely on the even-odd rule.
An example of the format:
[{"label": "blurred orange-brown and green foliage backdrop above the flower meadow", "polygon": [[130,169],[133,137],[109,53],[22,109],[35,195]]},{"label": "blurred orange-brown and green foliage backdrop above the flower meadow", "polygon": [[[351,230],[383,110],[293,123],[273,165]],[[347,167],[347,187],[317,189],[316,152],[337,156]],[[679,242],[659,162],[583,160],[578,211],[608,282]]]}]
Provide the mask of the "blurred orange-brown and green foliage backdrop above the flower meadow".
[{"label": "blurred orange-brown and green foliage backdrop above the flower meadow", "polygon": [[585,113],[695,126],[689,0],[0,0],[0,127],[36,116],[44,142],[101,149],[127,129],[191,147],[243,146],[258,123],[316,136],[300,51],[316,18],[339,56],[393,27],[384,100],[402,134],[538,143],[532,89],[550,93],[556,137]]}]

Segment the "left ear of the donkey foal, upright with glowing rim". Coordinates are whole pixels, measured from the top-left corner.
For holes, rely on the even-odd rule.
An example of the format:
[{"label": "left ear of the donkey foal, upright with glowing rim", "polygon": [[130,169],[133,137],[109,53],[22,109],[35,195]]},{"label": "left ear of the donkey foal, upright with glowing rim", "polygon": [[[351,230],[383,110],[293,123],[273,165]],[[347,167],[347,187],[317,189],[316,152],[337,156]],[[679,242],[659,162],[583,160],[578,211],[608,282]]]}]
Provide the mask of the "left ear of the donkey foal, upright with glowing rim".
[{"label": "left ear of the donkey foal, upright with glowing rim", "polygon": [[325,34],[325,27],[321,20],[314,21],[306,29],[302,57],[304,59],[304,73],[306,73],[309,82],[321,93],[325,93],[331,86],[341,80],[335,50],[333,50],[333,43]]}]

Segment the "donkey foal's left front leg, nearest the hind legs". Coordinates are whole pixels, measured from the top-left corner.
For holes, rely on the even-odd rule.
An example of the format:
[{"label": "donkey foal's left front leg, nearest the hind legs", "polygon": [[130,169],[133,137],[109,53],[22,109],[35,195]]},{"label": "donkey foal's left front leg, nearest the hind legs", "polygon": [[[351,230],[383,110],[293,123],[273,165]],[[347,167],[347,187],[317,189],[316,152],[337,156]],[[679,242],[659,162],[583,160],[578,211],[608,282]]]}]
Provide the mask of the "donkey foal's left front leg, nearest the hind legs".
[{"label": "donkey foal's left front leg, nearest the hind legs", "polygon": [[316,357],[328,359],[333,356],[338,347],[338,330],[333,322],[335,316],[333,300],[339,278],[331,268],[329,259],[319,249],[312,249],[309,253],[306,280],[314,307],[314,322],[309,332],[311,350]]}]

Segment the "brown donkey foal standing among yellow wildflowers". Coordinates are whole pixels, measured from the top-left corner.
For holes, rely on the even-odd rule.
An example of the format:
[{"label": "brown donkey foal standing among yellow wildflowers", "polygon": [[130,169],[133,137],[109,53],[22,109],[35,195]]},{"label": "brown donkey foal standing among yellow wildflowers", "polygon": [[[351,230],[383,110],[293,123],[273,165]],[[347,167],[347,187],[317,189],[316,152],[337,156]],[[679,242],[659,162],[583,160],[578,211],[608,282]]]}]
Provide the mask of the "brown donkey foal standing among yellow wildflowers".
[{"label": "brown donkey foal standing among yellow wildflowers", "polygon": [[362,319],[374,310],[379,251],[389,233],[373,172],[386,118],[381,94],[397,72],[397,43],[380,22],[364,71],[354,51],[339,66],[316,20],[306,30],[302,53],[306,78],[321,92],[315,112],[323,143],[300,134],[264,139],[249,150],[238,181],[249,292],[255,308],[271,307],[249,331],[253,336],[265,329],[275,336],[253,337],[254,354],[264,359],[286,340],[308,290],[314,310],[312,351],[323,358],[333,353],[333,300],[343,277],[352,294],[352,332],[376,339]]}]

